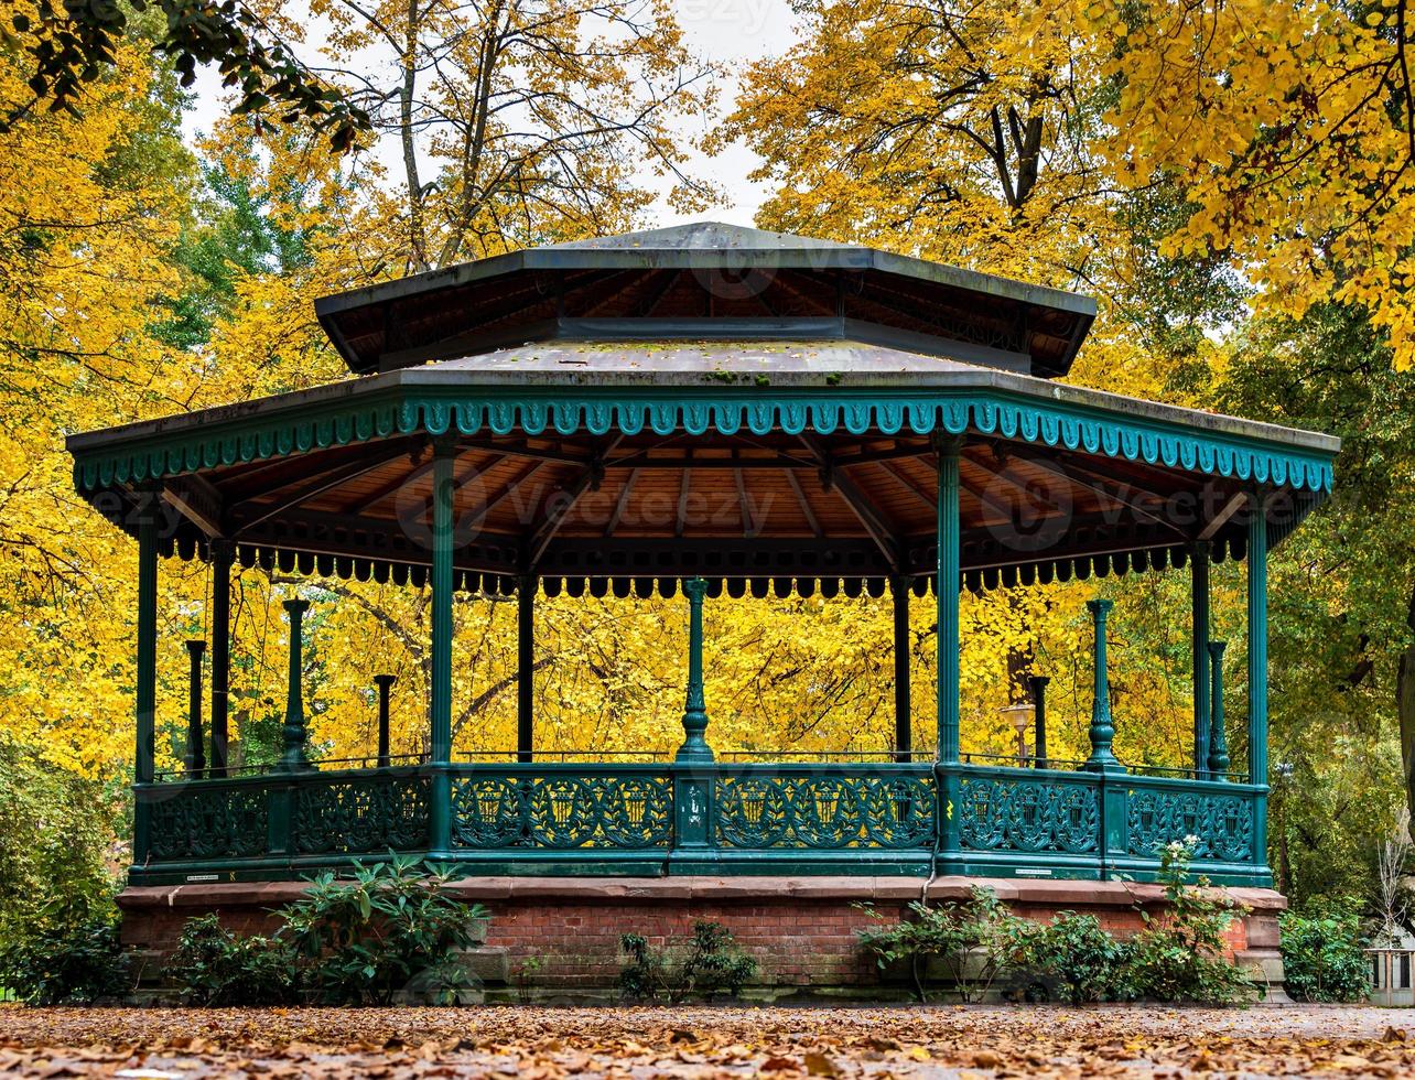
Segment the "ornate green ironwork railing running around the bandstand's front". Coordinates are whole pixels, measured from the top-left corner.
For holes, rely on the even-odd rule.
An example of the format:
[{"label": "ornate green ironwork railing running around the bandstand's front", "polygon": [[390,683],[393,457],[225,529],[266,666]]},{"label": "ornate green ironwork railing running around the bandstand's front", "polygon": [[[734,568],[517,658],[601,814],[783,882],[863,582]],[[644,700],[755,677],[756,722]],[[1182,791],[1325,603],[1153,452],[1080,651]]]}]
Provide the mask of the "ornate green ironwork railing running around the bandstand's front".
[{"label": "ornate green ironwork railing running around the bandstand's front", "polygon": [[[968,873],[1268,885],[1265,788],[931,763],[454,764],[275,771],[136,788],[134,883],[263,880],[427,852],[468,873]],[[940,812],[942,794],[944,811]],[[436,848],[436,837],[447,837]]]}]

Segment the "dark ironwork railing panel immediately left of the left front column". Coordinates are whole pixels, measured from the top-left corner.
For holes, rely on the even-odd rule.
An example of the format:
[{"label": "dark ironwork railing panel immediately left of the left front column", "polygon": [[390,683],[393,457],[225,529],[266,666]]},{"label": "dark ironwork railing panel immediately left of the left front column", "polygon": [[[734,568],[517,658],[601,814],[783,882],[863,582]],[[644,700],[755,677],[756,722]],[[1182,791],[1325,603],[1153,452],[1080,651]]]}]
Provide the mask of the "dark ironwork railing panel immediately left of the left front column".
[{"label": "dark ironwork railing panel immediately left of the left front column", "polygon": [[427,780],[301,779],[291,824],[301,855],[417,851],[427,846]]}]

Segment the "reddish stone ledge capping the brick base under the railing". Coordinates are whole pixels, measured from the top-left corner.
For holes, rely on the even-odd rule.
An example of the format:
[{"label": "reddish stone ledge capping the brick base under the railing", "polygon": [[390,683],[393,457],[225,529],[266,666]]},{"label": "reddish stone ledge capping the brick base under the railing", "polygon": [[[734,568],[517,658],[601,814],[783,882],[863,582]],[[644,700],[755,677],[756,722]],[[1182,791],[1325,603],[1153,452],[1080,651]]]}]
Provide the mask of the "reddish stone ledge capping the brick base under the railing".
[{"label": "reddish stone ledge capping the brick base under the railing", "polygon": [[[117,897],[123,910],[178,907],[258,906],[279,907],[299,899],[301,882],[218,882],[201,885],[129,886]],[[1037,880],[1017,878],[938,878],[928,885],[930,900],[955,900],[974,887],[992,889],[999,900],[1026,906],[1135,907],[1165,902],[1165,889],[1140,882]],[[855,876],[682,876],[682,878],[461,878],[451,892],[464,900],[917,900],[924,893],[918,878]],[[1282,912],[1286,897],[1272,889],[1213,889],[1252,912]]]}]

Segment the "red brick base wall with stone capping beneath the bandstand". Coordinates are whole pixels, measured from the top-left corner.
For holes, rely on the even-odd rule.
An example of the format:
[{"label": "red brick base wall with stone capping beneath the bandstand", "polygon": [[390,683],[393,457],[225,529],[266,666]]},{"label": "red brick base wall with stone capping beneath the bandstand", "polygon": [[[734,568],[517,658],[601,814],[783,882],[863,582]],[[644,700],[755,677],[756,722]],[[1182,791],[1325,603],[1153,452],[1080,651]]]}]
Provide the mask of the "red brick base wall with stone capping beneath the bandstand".
[{"label": "red brick base wall with stone capping beneath the bandstand", "polygon": [[[1138,909],[1163,909],[1159,886],[1126,882],[1036,882],[941,878],[930,902],[964,899],[990,887],[1017,914],[1049,921],[1057,912],[1094,913],[1118,937],[1138,931]],[[516,981],[526,960],[541,967],[529,980],[549,989],[614,987],[623,957],[620,934],[638,933],[654,946],[692,933],[699,919],[722,923],[760,964],[767,988],[883,988],[882,972],[859,947],[856,931],[872,924],[869,903],[901,919],[923,882],[907,878],[664,878],[546,879],[475,878],[453,890],[491,912],[480,970],[490,985]],[[299,883],[187,885],[127,889],[119,897],[123,941],[149,953],[154,970],[187,919],[214,912],[232,930],[270,933],[269,910],[294,899]],[[1262,967],[1281,984],[1278,913],[1285,899],[1271,889],[1223,890],[1248,909],[1227,934],[1228,950]],[[889,980],[886,978],[884,982]]]}]

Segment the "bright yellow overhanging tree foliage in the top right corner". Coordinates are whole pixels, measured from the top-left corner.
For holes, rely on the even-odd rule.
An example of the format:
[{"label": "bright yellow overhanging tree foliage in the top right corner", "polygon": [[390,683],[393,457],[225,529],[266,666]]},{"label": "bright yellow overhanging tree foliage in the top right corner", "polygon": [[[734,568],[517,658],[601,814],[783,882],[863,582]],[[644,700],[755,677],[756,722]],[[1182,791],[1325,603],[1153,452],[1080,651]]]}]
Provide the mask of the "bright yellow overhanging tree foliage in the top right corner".
[{"label": "bright yellow overhanging tree foliage in the top right corner", "polygon": [[1124,187],[1169,181],[1179,256],[1221,253],[1262,310],[1370,311],[1415,364],[1415,93],[1409,0],[1101,0],[1116,86],[1095,150]]}]

